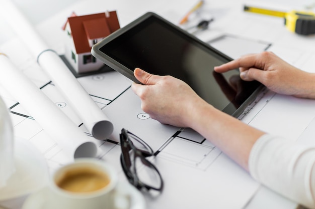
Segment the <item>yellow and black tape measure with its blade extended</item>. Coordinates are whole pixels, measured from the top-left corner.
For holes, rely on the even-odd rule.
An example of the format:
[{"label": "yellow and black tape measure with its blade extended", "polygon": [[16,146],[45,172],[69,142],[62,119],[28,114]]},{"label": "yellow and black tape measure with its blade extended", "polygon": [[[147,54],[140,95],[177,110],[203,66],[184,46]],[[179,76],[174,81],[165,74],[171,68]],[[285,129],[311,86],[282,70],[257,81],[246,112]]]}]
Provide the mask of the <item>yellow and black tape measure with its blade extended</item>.
[{"label": "yellow and black tape measure with its blade extended", "polygon": [[270,15],[274,17],[284,18],[285,27],[296,34],[313,35],[315,34],[315,14],[312,12],[290,11],[281,12],[275,10],[267,10],[244,6],[245,12],[258,13],[262,15]]}]

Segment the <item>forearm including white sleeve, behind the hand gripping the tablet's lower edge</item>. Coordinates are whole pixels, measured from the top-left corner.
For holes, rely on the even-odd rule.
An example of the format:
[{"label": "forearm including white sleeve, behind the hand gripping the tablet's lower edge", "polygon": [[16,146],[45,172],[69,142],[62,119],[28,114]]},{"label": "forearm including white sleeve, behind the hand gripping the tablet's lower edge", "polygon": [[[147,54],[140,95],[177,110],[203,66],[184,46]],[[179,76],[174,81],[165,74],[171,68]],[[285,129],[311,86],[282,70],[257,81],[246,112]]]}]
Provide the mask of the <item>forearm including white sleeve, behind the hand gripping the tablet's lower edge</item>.
[{"label": "forearm including white sleeve, behind the hand gripping the tablet's lower edge", "polygon": [[258,182],[315,208],[315,147],[271,137],[206,103],[192,112],[190,127],[249,170]]}]

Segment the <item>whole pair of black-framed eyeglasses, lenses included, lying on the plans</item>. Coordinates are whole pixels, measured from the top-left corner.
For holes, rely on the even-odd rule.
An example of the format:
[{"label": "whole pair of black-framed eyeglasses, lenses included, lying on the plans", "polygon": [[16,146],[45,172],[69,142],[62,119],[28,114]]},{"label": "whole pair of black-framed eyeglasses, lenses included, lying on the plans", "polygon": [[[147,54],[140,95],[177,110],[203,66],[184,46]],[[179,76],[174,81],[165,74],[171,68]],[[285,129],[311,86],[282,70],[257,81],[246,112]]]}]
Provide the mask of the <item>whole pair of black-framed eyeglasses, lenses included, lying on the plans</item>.
[{"label": "whole pair of black-framed eyeglasses, lenses included, lying on the plans", "polygon": [[142,139],[122,129],[120,133],[120,162],[128,181],[139,190],[162,191],[163,179],[157,168],[147,157],[153,156],[153,150]]}]

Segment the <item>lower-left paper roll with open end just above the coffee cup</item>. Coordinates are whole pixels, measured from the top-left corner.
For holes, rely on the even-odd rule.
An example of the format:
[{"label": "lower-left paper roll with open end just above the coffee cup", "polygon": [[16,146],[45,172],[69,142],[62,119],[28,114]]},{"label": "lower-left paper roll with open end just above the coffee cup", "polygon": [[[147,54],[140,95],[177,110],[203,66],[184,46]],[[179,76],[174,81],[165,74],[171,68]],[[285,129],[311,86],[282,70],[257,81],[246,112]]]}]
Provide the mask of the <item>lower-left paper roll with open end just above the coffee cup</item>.
[{"label": "lower-left paper roll with open end just above the coffee cup", "polygon": [[72,158],[96,156],[97,145],[1,53],[0,83],[58,143],[65,154]]}]

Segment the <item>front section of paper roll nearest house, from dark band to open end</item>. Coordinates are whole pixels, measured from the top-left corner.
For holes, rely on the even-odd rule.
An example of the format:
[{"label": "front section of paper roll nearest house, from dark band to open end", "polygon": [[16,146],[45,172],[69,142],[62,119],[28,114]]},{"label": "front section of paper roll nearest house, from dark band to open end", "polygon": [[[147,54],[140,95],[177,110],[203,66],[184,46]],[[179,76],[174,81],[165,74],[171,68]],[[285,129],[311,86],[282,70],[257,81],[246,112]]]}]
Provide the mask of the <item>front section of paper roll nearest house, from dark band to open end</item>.
[{"label": "front section of paper roll nearest house, from dark band to open end", "polygon": [[84,125],[96,139],[106,139],[112,134],[112,122],[77,82],[55,52],[51,50],[42,52],[38,57],[38,63],[46,70],[53,83],[62,89],[71,107],[81,116]]}]

